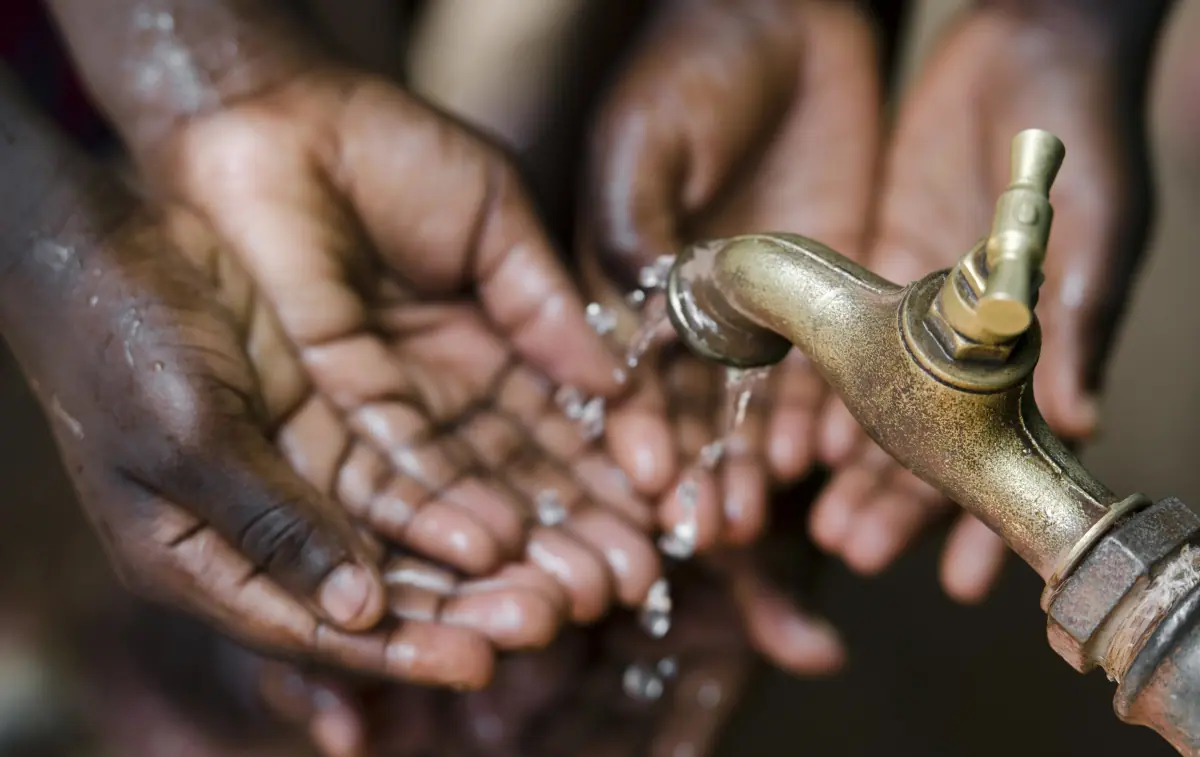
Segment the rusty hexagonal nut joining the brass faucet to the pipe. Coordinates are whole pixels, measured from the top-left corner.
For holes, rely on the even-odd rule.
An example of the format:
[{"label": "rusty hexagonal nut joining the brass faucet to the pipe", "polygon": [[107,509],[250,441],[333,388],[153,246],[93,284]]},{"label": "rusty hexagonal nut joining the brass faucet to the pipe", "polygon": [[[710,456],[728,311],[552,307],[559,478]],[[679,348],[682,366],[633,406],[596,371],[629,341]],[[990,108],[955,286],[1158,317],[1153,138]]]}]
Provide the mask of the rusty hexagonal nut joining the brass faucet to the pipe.
[{"label": "rusty hexagonal nut joining the brass faucet to the pipe", "polygon": [[1099,660],[1092,649],[1112,612],[1156,566],[1200,535],[1200,516],[1175,498],[1127,517],[1063,582],[1046,611],[1050,645],[1080,673]]}]

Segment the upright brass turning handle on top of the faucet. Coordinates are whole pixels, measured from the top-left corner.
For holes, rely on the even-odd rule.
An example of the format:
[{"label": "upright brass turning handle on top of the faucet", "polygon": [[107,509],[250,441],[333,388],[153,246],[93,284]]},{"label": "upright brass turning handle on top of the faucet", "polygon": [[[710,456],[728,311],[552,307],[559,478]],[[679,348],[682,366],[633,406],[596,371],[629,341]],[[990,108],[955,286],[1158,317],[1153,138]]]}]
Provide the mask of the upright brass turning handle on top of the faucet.
[{"label": "upright brass turning handle on top of the faucet", "polygon": [[976,306],[980,325],[997,337],[1020,336],[1033,323],[1034,294],[1054,220],[1050,185],[1064,154],[1062,142],[1040,128],[1013,138],[1012,179],[996,200],[986,244],[986,284]]}]

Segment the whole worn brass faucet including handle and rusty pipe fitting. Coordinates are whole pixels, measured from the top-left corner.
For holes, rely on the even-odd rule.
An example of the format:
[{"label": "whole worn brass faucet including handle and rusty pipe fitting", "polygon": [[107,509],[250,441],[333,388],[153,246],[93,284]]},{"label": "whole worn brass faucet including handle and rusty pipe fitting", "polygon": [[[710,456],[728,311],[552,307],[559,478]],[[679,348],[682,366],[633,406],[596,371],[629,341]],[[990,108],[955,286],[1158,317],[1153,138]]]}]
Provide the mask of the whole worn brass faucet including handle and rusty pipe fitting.
[{"label": "whole worn brass faucet including handle and rusty pipe fitting", "polygon": [[748,368],[803,352],[866,433],[979,517],[1046,582],[1051,645],[1120,681],[1129,722],[1200,756],[1200,517],[1118,497],[1049,429],[1033,398],[1034,317],[1064,150],[1027,130],[991,234],[906,287],[803,236],[694,245],[667,300],[680,340]]}]

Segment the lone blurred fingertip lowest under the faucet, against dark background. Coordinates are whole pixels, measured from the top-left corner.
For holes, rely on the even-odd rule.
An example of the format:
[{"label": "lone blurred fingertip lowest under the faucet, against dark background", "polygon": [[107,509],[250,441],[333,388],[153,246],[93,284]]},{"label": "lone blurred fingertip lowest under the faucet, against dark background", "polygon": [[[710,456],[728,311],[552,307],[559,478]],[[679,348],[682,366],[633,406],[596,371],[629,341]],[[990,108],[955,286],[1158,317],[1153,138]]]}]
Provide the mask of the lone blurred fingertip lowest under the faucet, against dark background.
[{"label": "lone blurred fingertip lowest under the faucet, against dark background", "polygon": [[749,557],[731,564],[730,578],[746,633],[760,654],[798,675],[841,667],[846,653],[834,627],[775,589]]}]

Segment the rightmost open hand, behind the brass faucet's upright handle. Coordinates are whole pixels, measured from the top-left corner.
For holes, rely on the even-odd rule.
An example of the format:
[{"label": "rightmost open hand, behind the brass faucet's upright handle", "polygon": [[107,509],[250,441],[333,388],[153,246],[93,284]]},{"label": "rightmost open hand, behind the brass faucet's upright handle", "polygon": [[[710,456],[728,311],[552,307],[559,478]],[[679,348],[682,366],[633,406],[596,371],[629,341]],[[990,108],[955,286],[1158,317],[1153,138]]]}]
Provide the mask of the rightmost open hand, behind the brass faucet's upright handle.
[{"label": "rightmost open hand, behind the brass faucet's upright handle", "polygon": [[[949,268],[990,229],[1013,137],[1030,127],[1058,136],[1067,157],[1050,196],[1034,391],[1051,428],[1074,441],[1096,429],[1098,368],[1148,218],[1136,76],[1106,35],[1082,20],[1057,28],[995,8],[967,13],[902,103],[866,257],[901,284]],[[838,473],[814,509],[814,537],[859,571],[881,570],[944,511],[937,492],[870,443],[840,403],[822,417],[821,457]],[[1004,554],[997,536],[964,516],[943,554],[942,583],[977,601]]]}]

